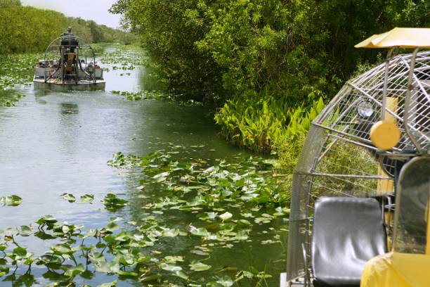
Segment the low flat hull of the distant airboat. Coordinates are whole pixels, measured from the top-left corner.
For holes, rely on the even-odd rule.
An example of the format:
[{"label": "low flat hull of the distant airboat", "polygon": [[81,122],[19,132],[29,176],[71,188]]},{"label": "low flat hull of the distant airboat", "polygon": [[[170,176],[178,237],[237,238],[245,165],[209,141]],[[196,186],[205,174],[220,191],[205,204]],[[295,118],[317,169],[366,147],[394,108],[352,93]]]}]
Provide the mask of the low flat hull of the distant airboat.
[{"label": "low flat hull of the distant airboat", "polygon": [[34,79],[34,89],[49,89],[53,91],[104,91],[106,81],[98,79],[96,82],[80,80],[77,84],[74,81],[63,83],[58,79]]}]

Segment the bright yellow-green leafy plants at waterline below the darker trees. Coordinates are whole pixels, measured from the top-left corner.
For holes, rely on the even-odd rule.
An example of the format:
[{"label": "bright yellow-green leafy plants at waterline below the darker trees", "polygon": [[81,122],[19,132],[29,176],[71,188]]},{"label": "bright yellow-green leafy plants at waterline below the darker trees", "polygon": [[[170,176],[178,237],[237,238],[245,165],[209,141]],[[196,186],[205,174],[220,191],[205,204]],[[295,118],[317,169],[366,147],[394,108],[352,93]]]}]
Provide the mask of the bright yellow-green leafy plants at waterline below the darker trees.
[{"label": "bright yellow-green leafy plants at waterline below the darker trees", "polygon": [[313,118],[323,107],[322,98],[311,108],[299,106],[295,110],[288,103],[269,96],[259,101],[229,100],[216,113],[215,120],[221,126],[221,133],[233,143],[256,151],[271,151],[275,141],[306,135]]}]

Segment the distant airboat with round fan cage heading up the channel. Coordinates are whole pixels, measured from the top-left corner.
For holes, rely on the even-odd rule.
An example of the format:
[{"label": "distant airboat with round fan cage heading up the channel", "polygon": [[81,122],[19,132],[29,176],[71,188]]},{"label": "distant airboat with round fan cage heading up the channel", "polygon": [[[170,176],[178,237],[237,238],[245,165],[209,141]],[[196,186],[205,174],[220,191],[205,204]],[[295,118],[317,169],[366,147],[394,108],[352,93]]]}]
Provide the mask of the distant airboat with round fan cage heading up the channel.
[{"label": "distant airboat with round fan cage heading up the channel", "polygon": [[83,39],[72,34],[72,28],[56,38],[45,51],[44,60],[34,68],[34,89],[104,90],[103,69],[96,54]]}]

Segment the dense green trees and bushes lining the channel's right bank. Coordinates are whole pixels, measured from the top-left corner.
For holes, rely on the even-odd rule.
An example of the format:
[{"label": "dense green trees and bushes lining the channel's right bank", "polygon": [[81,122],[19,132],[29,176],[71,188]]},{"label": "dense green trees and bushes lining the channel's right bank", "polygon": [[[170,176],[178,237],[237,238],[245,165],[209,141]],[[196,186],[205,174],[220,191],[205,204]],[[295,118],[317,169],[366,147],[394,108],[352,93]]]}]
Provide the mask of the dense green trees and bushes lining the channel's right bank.
[{"label": "dense green trees and bushes lining the channel's right bank", "polygon": [[[169,87],[220,108],[226,139],[256,150],[284,146],[296,118],[308,125],[358,65],[371,34],[429,24],[426,1],[118,0],[113,13],[158,65]],[[319,106],[318,106],[319,105]],[[288,133],[287,133],[288,134]],[[288,136],[287,136],[288,137]]]}]

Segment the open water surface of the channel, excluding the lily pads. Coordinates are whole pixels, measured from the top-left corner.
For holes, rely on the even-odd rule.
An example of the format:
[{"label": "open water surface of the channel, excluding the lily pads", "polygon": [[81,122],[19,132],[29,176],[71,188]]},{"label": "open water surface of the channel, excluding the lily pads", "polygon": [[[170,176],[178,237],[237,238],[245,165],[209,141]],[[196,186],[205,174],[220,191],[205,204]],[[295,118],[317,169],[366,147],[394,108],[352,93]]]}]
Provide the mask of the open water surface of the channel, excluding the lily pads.
[{"label": "open water surface of the channel, excluding the lily pads", "polygon": [[[0,207],[0,229],[31,224],[42,215],[82,224],[85,230],[103,227],[115,215],[139,222],[148,215],[142,209],[146,201],[140,200],[136,191],[139,172],[106,165],[118,151],[145,155],[181,146],[176,158],[202,158],[209,162],[249,156],[216,135],[218,130],[208,116],[208,108],[157,100],[128,101],[124,96],[110,93],[163,89],[149,68],[140,67],[127,71],[131,75],[121,76],[124,71],[113,70],[113,64],[103,65],[106,66],[111,69],[105,72],[105,91],[56,92],[30,88],[18,91],[24,97],[15,107],[0,107],[0,196],[15,194],[23,198],[18,207]],[[6,92],[13,93],[17,91]],[[159,191],[145,192],[153,193],[146,194],[153,197]],[[77,196],[92,193],[96,200],[91,205],[68,203],[60,198],[63,193]],[[106,193],[129,198],[132,204],[117,213],[107,212],[100,203]],[[180,229],[196,221],[193,213],[186,212],[171,211],[158,216]],[[222,267],[246,270],[252,266],[273,276],[261,286],[278,286],[279,273],[285,267],[285,248],[279,243],[259,242],[273,238],[274,234],[280,234],[284,242],[286,234],[279,229],[286,227],[285,220],[278,220],[270,228],[267,224],[257,226],[252,241],[215,250],[205,262],[220,268],[202,273],[202,277],[224,276],[219,273]],[[20,242],[36,254],[44,253],[52,244],[32,236]],[[202,260],[201,256],[189,253],[199,243],[199,238],[179,236],[160,242],[155,249],[166,255],[181,254]],[[42,270],[36,268],[33,273],[39,284],[47,282],[41,278]],[[227,275],[234,277],[234,273]],[[96,286],[113,279],[114,276],[98,275],[84,280],[78,276],[77,283]],[[119,286],[134,284],[126,280],[120,281]],[[10,285],[0,281],[0,286]]]}]

